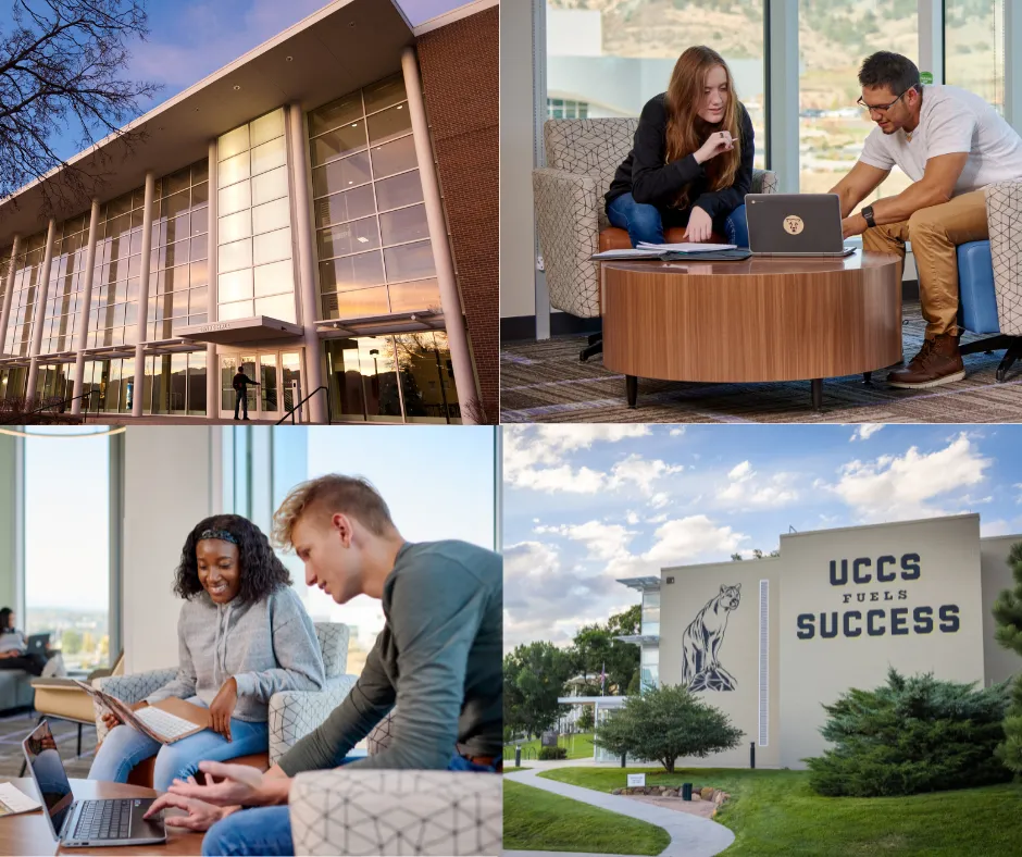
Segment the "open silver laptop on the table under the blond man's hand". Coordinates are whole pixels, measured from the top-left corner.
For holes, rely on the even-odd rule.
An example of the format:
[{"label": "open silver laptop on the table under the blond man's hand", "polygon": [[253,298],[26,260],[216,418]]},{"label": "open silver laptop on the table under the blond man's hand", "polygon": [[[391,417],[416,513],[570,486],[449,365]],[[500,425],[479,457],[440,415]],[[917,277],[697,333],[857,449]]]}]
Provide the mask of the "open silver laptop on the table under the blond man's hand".
[{"label": "open silver laptop on the table under the blond man's hand", "polygon": [[50,724],[43,720],[22,742],[42,815],[53,839],[68,848],[153,845],[166,842],[163,813],[144,819],[155,798],[75,800]]}]

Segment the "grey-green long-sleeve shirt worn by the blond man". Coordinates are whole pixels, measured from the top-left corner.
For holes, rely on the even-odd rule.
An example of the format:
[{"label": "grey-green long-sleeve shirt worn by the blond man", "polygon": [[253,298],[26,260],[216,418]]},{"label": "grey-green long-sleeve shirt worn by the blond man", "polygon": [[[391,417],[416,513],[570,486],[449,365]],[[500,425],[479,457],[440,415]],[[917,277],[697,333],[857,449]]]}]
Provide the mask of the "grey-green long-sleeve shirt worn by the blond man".
[{"label": "grey-green long-sleeve shirt worn by the blond man", "polygon": [[502,743],[503,562],[464,542],[406,543],[384,583],[384,630],[351,693],[279,760],[334,768],[397,706],[389,747],[361,768],[444,769]]}]

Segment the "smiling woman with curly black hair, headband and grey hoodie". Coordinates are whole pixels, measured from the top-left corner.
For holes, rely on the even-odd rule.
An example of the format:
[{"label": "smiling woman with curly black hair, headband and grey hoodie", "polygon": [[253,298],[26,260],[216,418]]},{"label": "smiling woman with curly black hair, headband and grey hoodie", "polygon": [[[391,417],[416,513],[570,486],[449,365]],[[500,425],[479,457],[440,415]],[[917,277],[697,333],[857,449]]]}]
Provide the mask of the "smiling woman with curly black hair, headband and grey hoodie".
[{"label": "smiling woman with curly black hair, headband and grey hoodie", "polygon": [[312,620],[263,532],[237,514],[200,521],[182,550],[174,592],[185,599],[177,622],[178,667],[171,682],[133,706],[178,697],[210,709],[210,728],[161,745],[112,713],[89,771],[127,782],[155,756],[153,787],[187,780],[203,759],[264,753],[267,706],[279,691],[323,686],[323,656]]}]

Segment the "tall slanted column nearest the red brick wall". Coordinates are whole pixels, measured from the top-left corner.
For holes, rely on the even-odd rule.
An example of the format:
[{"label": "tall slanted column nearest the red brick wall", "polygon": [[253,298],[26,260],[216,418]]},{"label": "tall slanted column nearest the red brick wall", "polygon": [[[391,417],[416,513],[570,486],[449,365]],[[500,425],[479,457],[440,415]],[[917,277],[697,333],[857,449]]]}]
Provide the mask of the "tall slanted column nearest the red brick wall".
[{"label": "tall slanted column nearest the red brick wall", "polygon": [[447,224],[444,222],[444,207],[440,202],[440,184],[433,161],[433,146],[429,142],[429,125],[426,122],[426,107],[422,98],[422,80],[419,76],[419,62],[414,48],[401,51],[401,70],[404,73],[404,88],[408,90],[408,112],[412,120],[412,137],[415,140],[415,157],[419,160],[419,175],[422,178],[422,196],[426,209],[426,223],[429,225],[429,243],[433,245],[433,260],[436,263],[436,280],[440,287],[440,306],[447,324],[447,340],[451,349],[451,362],[454,367],[454,387],[458,401],[461,402],[461,421],[474,425],[479,409],[479,399],[475,392],[475,373],[472,371],[472,356],[469,353],[469,336],[465,333],[465,319],[461,309],[461,296],[454,281],[454,262],[451,259],[450,244],[447,240]]}]

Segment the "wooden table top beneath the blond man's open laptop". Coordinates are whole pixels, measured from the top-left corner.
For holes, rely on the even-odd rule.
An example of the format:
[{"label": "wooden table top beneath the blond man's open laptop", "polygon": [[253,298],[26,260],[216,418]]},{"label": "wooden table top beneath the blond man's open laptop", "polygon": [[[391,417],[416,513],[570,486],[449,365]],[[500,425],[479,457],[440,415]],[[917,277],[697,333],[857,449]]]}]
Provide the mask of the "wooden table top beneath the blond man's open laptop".
[{"label": "wooden table top beneath the blond man's open laptop", "polygon": [[[35,783],[28,777],[13,779],[12,785],[26,795],[39,799]],[[72,780],[71,791],[76,800],[95,800],[104,797],[155,797],[159,792],[139,785],[107,783],[98,780]],[[184,815],[180,810],[169,809],[164,815]],[[50,825],[42,816],[42,810],[22,812],[17,816],[0,818],[0,855],[52,855],[52,854],[119,854],[125,855],[184,855],[202,853],[202,834],[166,829],[166,844],[139,845],[116,848],[60,848],[53,841]]]}]

